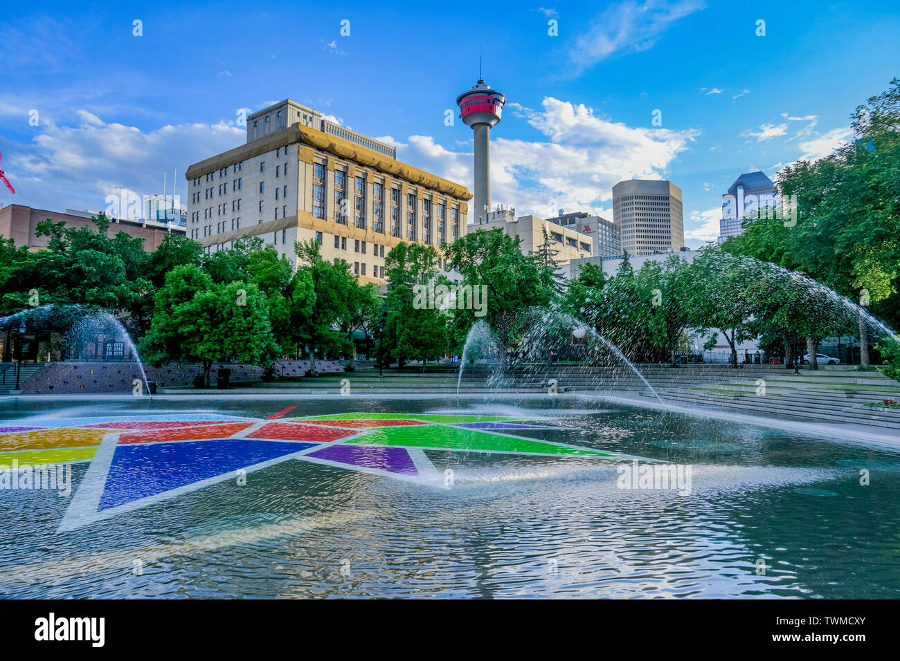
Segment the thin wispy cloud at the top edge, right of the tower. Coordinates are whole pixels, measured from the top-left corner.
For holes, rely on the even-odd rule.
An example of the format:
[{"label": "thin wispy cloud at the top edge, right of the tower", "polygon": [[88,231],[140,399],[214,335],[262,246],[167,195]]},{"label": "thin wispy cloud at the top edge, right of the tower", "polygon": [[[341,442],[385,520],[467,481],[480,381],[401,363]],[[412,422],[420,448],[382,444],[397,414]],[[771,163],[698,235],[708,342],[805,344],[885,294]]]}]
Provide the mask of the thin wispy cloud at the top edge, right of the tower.
[{"label": "thin wispy cloud at the top edge, right of the tower", "polygon": [[705,6],[703,0],[626,0],[610,4],[590,23],[588,31],[575,39],[570,53],[573,73],[617,54],[653,48],[673,22]]}]

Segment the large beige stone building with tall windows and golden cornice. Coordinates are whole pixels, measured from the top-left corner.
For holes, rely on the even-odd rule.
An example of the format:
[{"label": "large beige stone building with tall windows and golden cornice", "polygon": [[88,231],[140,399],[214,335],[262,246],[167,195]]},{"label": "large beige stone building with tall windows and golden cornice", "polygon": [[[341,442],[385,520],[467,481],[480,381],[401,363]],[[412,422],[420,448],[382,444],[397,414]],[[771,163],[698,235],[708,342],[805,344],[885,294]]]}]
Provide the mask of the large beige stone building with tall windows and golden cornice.
[{"label": "large beige stone building with tall windows and golden cornice", "polygon": [[191,165],[188,236],[207,253],[261,237],[296,264],[315,239],[361,281],[384,282],[401,241],[440,249],[465,233],[472,194],[397,161],[394,147],[287,99],[247,118],[247,144]]}]

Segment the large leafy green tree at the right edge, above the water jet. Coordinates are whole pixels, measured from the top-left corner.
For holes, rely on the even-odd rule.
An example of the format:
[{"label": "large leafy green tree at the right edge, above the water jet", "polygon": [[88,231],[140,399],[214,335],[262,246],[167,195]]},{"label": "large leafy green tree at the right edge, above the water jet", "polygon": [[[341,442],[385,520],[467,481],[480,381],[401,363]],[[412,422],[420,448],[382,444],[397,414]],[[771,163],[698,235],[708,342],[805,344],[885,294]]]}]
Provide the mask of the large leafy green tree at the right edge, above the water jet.
[{"label": "large leafy green tree at the right edge, above the water jet", "polygon": [[[851,115],[856,139],[831,156],[799,161],[779,172],[783,199],[796,200],[795,219],[762,211],[723,245],[801,271],[876,315],[900,322],[900,79]],[[859,316],[860,359],[869,364],[869,326]]]}]

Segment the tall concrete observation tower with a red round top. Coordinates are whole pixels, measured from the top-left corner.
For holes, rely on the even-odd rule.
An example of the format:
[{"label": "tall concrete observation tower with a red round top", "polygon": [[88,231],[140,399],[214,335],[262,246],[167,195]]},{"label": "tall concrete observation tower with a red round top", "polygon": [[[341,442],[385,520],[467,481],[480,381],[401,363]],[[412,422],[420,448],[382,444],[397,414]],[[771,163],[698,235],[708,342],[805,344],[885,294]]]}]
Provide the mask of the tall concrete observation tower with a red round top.
[{"label": "tall concrete observation tower with a red round top", "polygon": [[459,116],[475,133],[475,205],[473,220],[482,223],[491,210],[491,127],[500,121],[506,96],[492,90],[481,77],[473,88],[456,97]]}]

